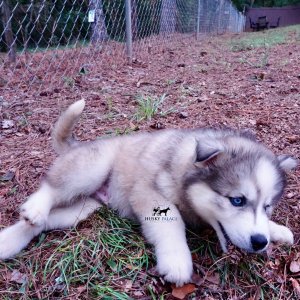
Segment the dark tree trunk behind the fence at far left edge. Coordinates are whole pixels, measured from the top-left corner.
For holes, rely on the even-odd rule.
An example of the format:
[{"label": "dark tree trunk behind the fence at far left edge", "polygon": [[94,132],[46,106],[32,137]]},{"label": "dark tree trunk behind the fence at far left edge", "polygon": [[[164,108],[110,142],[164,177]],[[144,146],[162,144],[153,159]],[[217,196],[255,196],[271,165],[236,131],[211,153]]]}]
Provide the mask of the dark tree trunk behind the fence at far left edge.
[{"label": "dark tree trunk behind the fence at far left edge", "polygon": [[11,10],[7,0],[2,3],[2,23],[4,27],[4,39],[8,49],[9,62],[16,61],[16,46],[14,41],[14,34],[11,27]]}]

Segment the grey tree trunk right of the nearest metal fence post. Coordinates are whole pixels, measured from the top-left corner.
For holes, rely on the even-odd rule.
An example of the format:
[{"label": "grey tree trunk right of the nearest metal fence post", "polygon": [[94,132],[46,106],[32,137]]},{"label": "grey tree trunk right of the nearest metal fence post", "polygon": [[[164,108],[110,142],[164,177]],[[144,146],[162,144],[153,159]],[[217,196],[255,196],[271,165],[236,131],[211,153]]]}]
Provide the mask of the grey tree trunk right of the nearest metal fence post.
[{"label": "grey tree trunk right of the nearest metal fence post", "polygon": [[176,0],[162,0],[160,33],[170,34],[176,29]]}]

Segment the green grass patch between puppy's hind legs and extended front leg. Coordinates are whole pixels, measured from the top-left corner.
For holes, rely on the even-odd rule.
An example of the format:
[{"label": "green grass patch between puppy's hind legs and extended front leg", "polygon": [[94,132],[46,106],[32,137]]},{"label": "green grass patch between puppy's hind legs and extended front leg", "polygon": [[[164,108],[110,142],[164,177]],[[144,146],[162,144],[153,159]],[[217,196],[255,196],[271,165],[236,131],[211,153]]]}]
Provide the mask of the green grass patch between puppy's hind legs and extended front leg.
[{"label": "green grass patch between puppy's hind legs and extended front leg", "polygon": [[87,223],[80,225],[84,229],[67,231],[59,238],[49,234],[52,237],[48,239],[48,234],[42,234],[41,241],[31,245],[28,252],[0,262],[0,269],[30,272],[22,285],[8,282],[5,289],[0,283],[0,299],[10,294],[9,286],[13,285],[18,291],[13,299],[33,299],[37,286],[46,287],[39,291],[43,299],[68,297],[74,289],[84,289],[90,299],[132,299],[122,282],[147,285],[147,277],[141,274],[149,267],[149,255],[152,257],[139,226],[107,208],[92,217],[92,228],[86,228]]}]

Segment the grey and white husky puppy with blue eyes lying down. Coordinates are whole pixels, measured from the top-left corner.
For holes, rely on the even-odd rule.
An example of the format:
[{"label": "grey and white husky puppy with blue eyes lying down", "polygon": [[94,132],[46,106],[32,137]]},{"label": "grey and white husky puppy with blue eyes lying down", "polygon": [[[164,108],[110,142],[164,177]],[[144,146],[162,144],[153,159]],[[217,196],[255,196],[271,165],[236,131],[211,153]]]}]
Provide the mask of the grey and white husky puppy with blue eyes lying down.
[{"label": "grey and white husky puppy with blue eyes lying down", "polygon": [[[101,202],[139,220],[155,247],[158,271],[178,286],[193,272],[185,223],[207,222],[224,251],[228,242],[248,252],[264,251],[270,242],[293,243],[292,232],[269,218],[295,159],[277,157],[249,134],[227,129],[80,143],[72,129],[84,105],[75,102],[56,123],[60,156],[21,206],[20,221],[0,232],[0,259],[16,255],[44,230],[76,226]],[[153,214],[157,207],[164,215]]]}]

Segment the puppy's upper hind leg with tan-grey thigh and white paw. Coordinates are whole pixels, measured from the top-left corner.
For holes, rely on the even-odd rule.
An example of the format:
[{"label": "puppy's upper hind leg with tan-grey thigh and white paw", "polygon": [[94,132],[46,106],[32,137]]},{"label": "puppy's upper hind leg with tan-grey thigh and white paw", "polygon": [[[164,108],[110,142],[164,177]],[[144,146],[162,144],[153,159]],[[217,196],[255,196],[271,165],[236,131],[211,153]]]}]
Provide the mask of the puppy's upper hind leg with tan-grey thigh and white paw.
[{"label": "puppy's upper hind leg with tan-grey thigh and white paw", "polygon": [[69,205],[76,197],[100,189],[114,157],[107,145],[79,147],[59,157],[38,191],[21,206],[21,216],[32,225],[44,225],[53,207]]}]

